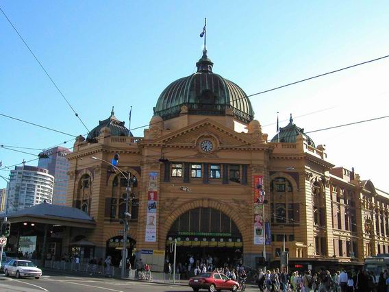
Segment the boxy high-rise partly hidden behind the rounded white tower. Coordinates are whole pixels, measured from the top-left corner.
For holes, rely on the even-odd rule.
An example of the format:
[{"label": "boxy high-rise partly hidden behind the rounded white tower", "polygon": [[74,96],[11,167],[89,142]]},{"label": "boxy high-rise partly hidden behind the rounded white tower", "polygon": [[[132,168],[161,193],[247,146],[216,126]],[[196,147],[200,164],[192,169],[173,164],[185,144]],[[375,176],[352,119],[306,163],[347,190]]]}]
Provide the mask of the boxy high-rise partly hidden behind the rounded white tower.
[{"label": "boxy high-rise partly hidden behind the rounded white tower", "polygon": [[69,167],[66,155],[70,153],[71,151],[67,148],[54,147],[40,154],[38,167],[47,169],[49,174],[55,178],[53,192],[53,204],[55,205],[66,204],[66,186],[68,184],[66,173]]}]

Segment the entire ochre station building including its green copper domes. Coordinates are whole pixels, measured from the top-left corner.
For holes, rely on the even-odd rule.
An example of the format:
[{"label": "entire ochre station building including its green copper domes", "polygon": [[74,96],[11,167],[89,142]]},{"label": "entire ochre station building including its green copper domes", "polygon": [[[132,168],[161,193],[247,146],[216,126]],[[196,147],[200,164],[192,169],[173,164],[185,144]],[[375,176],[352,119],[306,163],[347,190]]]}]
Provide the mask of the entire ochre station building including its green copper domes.
[{"label": "entire ochre station building including its green copper domes", "polygon": [[213,72],[206,51],[196,65],[155,99],[142,137],[112,109],[76,139],[66,205],[85,214],[88,227],[48,234],[55,254],[110,255],[118,265],[127,178],[108,163],[115,154],[118,169],[135,178],[127,210],[133,264],[142,258],[162,271],[175,242],[177,263],[212,256],[216,266],[253,268],[263,267],[264,252],[279,267],[284,248],[290,269],[362,265],[389,253],[389,193],[336,167],[292,116],[268,136],[244,90]]}]

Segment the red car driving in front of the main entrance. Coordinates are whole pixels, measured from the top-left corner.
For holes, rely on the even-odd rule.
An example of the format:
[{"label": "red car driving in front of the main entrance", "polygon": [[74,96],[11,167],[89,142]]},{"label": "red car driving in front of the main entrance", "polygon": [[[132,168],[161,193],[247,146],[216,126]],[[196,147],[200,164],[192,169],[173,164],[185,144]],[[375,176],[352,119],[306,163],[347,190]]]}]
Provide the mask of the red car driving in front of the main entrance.
[{"label": "red car driving in front of the main entrance", "polygon": [[189,286],[193,291],[199,291],[200,289],[208,289],[210,292],[231,290],[233,292],[238,291],[239,283],[229,279],[223,273],[201,273],[197,277],[189,279]]}]

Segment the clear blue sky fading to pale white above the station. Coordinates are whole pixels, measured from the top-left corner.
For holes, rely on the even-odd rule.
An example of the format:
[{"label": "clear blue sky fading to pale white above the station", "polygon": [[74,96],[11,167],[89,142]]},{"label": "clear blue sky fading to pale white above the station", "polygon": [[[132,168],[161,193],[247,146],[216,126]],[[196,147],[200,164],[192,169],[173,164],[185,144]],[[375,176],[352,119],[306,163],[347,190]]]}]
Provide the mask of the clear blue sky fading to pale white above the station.
[{"label": "clear blue sky fading to pale white above the station", "polygon": [[[162,90],[194,73],[207,18],[214,73],[247,95],[389,55],[388,1],[14,1],[0,7],[89,130],[116,117],[147,125]],[[0,114],[72,135],[86,129],[0,13]],[[389,114],[389,58],[251,97],[269,138],[294,123],[305,132]],[[302,117],[301,117],[302,116]],[[327,159],[386,184],[389,119],[310,134]],[[72,136],[0,116],[0,145],[45,149]],[[143,128],[134,130],[142,136]],[[73,141],[62,146],[72,147]],[[40,152],[0,148],[11,165]],[[37,165],[37,160],[29,165]],[[13,169],[13,167],[12,167]],[[5,187],[0,178],[0,188]]]}]

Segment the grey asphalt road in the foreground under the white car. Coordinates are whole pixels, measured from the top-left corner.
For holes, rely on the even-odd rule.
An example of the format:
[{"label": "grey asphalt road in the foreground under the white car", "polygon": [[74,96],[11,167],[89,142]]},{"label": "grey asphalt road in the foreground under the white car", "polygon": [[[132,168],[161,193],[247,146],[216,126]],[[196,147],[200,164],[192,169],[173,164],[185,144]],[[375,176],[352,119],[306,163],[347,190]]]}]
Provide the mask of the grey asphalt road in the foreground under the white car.
[{"label": "grey asphalt road in the foreground under the white car", "polygon": [[[173,292],[192,291],[190,287],[179,285],[155,284],[147,282],[136,282],[129,280],[118,280],[110,278],[92,278],[88,276],[63,276],[58,273],[45,273],[42,278],[36,280],[5,278],[0,276],[0,291],[2,292]],[[205,290],[202,290],[205,291]],[[246,291],[259,291],[249,288]]]}]

